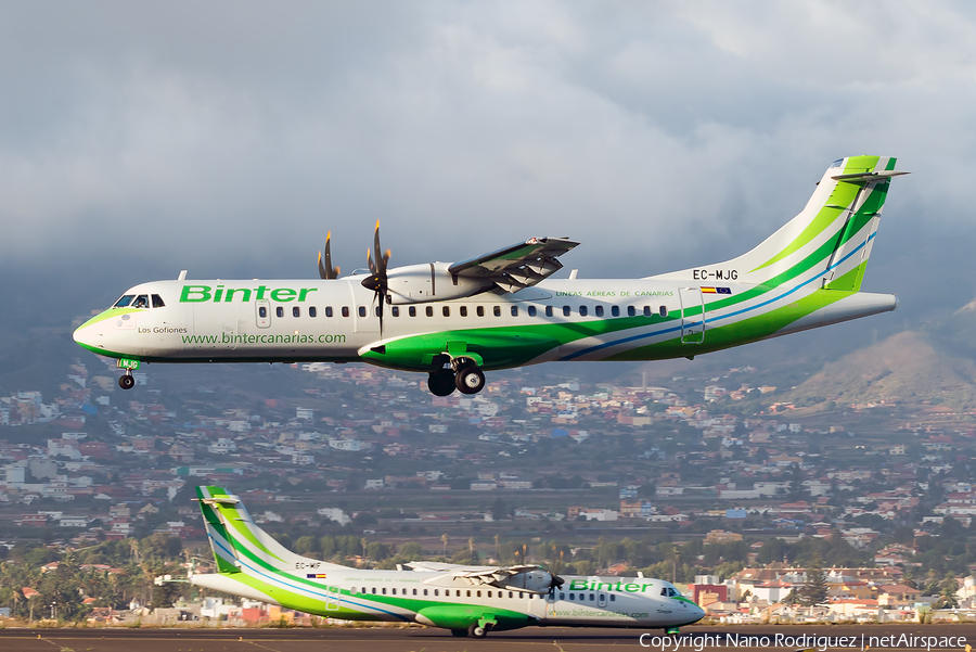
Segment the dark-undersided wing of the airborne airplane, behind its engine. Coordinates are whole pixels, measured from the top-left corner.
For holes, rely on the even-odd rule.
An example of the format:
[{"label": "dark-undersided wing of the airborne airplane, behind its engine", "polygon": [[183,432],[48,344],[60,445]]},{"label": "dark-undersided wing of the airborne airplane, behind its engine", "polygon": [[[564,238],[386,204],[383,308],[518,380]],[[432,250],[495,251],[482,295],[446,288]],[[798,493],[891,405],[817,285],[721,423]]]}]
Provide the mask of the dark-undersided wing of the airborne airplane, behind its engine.
[{"label": "dark-undersided wing of the airborne airplane, behind its engine", "polygon": [[448,271],[458,277],[490,279],[505,292],[518,292],[563,268],[556,258],[577,246],[567,238],[529,238],[525,242],[454,263]]}]

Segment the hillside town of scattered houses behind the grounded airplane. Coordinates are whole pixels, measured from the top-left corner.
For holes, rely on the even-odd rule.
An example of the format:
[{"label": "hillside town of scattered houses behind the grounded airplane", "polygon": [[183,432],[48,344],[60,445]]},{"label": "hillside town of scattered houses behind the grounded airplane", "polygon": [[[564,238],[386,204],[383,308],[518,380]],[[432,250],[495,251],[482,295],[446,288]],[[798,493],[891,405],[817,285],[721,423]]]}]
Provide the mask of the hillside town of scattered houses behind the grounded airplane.
[{"label": "hillside town of scattered houses behind the grounded airplane", "polygon": [[[279,366],[251,391],[137,372],[123,393],[105,362],[75,361],[54,393],[0,397],[0,555],[38,566],[0,609],[24,612],[65,555],[174,538],[142,571],[136,553],[73,566],[142,583],[86,596],[76,615],[304,617],[191,595],[209,554],[191,501],[205,484],[299,552],[349,565],[509,563],[518,547],[548,564],[561,550],[567,573],[660,576],[723,623],[976,608],[972,412],[787,400],[775,371],[704,369],[626,385],[511,372],[434,397],[424,376],[324,363]],[[153,593],[151,573],[168,588]],[[811,584],[822,595],[802,599]]]}]

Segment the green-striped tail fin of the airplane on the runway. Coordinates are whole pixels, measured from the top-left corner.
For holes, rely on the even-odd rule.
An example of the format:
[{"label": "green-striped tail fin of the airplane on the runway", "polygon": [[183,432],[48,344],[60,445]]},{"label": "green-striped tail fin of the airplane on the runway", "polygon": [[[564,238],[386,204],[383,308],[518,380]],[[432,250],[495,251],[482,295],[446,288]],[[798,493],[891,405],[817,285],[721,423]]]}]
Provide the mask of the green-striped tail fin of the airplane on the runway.
[{"label": "green-striped tail fin of the airplane on the runway", "polygon": [[219,573],[240,573],[256,566],[291,571],[336,566],[301,557],[279,544],[258,527],[241,499],[227,489],[196,487],[196,496]]}]

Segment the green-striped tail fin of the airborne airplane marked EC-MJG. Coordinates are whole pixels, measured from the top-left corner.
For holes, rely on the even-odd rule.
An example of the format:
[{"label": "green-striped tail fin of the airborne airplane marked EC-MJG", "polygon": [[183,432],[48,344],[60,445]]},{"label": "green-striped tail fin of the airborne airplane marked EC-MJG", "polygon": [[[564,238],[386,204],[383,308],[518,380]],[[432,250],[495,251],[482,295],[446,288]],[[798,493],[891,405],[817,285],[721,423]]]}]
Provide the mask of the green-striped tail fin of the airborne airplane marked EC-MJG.
[{"label": "green-striped tail fin of the airborne airplane marked EC-MJG", "polygon": [[804,209],[752,251],[715,265],[657,276],[776,286],[821,273],[820,287],[857,292],[895,170],[887,156],[849,156],[824,172]]}]

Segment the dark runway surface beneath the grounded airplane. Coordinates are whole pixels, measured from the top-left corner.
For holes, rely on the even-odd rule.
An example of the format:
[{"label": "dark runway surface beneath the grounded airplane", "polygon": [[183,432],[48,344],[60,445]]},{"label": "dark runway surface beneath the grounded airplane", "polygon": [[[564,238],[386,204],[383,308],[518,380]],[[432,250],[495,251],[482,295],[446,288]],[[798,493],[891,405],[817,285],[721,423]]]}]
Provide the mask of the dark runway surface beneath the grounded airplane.
[{"label": "dark runway surface beneath the grounded airplane", "polygon": [[[641,635],[645,635],[641,638]],[[796,637],[817,637],[802,642]],[[662,640],[660,630],[534,627],[492,632],[485,639],[455,638],[428,628],[332,629],[2,629],[3,652],[592,652],[611,647],[637,650],[964,650],[976,642],[976,625],[749,625],[685,627],[676,644]],[[657,637],[657,638],[655,638]],[[745,640],[746,637],[750,637]],[[765,637],[765,638],[763,638]],[[824,640],[824,637],[827,640]],[[883,637],[894,637],[885,639]],[[901,640],[899,640],[900,637]],[[935,637],[919,640],[912,637]],[[873,638],[873,640],[872,640]],[[844,640],[846,639],[846,640]],[[641,642],[645,647],[641,645]],[[652,645],[647,647],[647,645]],[[843,645],[843,647],[842,647]]]}]

